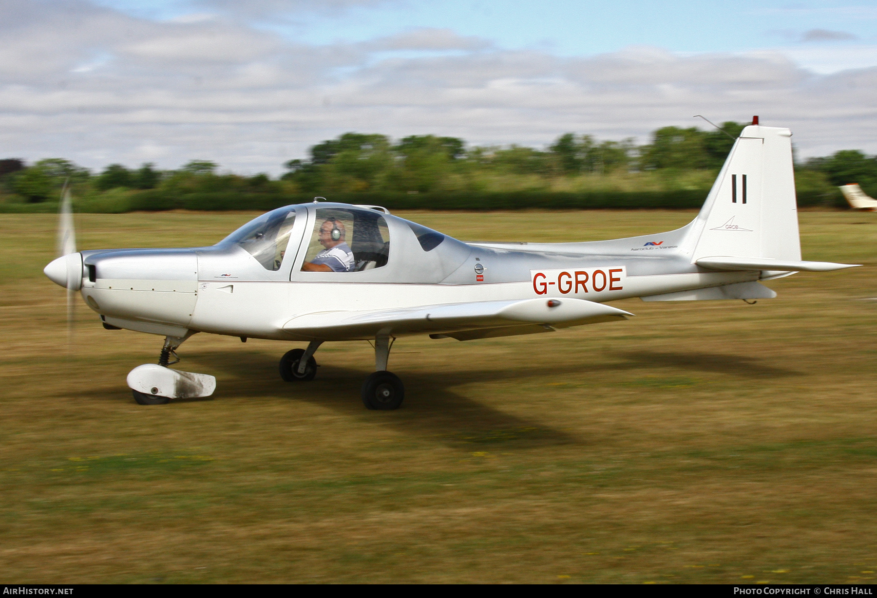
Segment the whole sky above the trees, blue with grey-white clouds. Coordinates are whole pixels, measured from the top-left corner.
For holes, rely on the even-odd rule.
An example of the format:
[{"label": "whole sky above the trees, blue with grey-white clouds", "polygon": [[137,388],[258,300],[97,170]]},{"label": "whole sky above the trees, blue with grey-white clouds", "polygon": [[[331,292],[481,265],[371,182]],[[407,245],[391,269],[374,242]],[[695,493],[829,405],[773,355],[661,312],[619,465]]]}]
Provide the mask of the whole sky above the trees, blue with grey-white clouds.
[{"label": "whole sky above the trees, blue with grey-white clouds", "polygon": [[877,153],[877,3],[3,0],[0,158],[282,173],[340,133],[787,126]]}]

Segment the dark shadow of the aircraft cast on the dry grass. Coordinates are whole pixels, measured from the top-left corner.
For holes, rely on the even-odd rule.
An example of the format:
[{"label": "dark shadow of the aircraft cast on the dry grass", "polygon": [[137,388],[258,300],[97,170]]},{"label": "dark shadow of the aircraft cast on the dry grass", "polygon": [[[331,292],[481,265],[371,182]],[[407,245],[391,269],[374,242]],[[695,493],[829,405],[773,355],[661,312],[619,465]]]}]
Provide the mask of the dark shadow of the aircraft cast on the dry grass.
[{"label": "dark shadow of the aircraft cast on the dry grass", "polygon": [[[634,372],[655,368],[676,368],[727,374],[747,379],[784,378],[798,375],[793,370],[766,366],[758,358],[738,355],[702,352],[616,352],[622,362],[614,363],[613,370]],[[351,395],[360,387],[361,371],[350,367],[327,364],[320,367],[320,377],[308,382],[284,382],[277,367],[265,353],[241,353],[236,351],[193,352],[187,362],[203,367],[221,368],[231,374],[216,395],[205,398],[177,399],[175,403],[223,400],[228,397],[260,398],[282,397],[295,402],[318,404],[349,416],[361,417],[363,411]],[[496,381],[526,381],[544,378],[562,379],[568,374],[604,372],[605,363],[555,365],[546,369],[525,367],[498,367],[455,369],[453,376],[444,370],[435,373],[410,373],[415,392],[410,395],[409,409],[388,413],[375,413],[381,425],[390,425],[422,438],[439,439],[446,445],[515,445],[517,447],[545,445],[588,445],[593,439],[583,438],[574,432],[562,431],[543,422],[495,409],[474,399],[467,398],[450,389],[469,383]],[[128,400],[117,388],[107,389]],[[546,387],[545,394],[563,392],[559,388]],[[550,398],[550,396],[546,397]]]}]

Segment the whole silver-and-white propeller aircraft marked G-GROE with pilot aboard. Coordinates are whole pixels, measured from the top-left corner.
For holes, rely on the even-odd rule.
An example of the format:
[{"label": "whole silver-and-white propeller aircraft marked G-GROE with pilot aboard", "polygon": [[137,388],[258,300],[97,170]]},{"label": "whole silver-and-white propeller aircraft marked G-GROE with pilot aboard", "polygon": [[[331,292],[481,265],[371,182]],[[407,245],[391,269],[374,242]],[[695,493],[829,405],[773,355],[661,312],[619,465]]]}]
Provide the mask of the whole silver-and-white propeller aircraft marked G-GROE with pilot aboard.
[{"label": "whole silver-and-white propeller aircraft marked G-GROE with pilot aboard", "polygon": [[165,338],[159,364],[128,375],[140,404],[213,392],[213,376],[168,367],[183,341],[210,332],[308,343],[280,360],[282,379],[298,383],[317,373],[324,342],[372,341],[362,401],[396,409],[404,387],[387,362],[398,337],[546,333],[630,317],[605,304],[618,299],[770,298],[760,281],[852,267],[801,260],[791,134],[745,127],[697,217],[659,234],[464,243],[377,206],[317,198],[267,212],[215,246],[75,252],[68,242],[45,273],[79,291],[104,328]]}]

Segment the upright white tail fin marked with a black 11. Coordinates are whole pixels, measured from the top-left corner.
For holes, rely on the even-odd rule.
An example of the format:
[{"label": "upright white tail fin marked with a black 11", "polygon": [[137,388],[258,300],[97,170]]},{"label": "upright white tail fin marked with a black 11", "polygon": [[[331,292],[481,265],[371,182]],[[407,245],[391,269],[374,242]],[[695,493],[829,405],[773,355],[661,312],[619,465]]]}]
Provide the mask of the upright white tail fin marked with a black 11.
[{"label": "upright white tail fin marked with a black 11", "polygon": [[715,256],[801,260],[791,136],[788,129],[745,127],[689,225],[691,263]]}]

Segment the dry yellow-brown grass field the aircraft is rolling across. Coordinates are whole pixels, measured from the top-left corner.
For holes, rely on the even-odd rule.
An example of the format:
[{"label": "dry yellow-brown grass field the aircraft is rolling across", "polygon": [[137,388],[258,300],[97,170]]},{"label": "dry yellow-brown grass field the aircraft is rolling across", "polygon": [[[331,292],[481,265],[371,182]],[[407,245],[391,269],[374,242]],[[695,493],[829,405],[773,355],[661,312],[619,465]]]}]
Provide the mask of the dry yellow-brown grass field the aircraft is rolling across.
[{"label": "dry yellow-brown grass field the aircraft is rolling across", "polygon": [[[464,239],[667,231],[692,212],[405,213]],[[252,214],[77,216],[79,247],[215,243]],[[196,335],[209,400],[135,404],[161,339],[105,331],[41,270],[55,217],[0,216],[0,581],[871,582],[877,215],[800,215],[780,296],[614,303],[637,317],[403,338],[403,409],[364,409],[366,343]],[[78,299],[78,297],[77,297]],[[296,345],[294,345],[296,346]],[[298,345],[303,346],[303,345]]]}]

